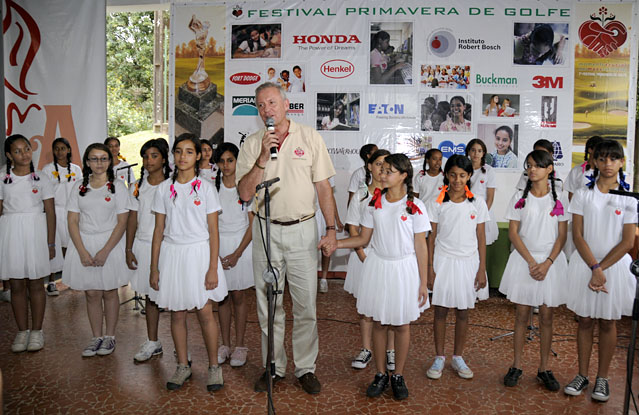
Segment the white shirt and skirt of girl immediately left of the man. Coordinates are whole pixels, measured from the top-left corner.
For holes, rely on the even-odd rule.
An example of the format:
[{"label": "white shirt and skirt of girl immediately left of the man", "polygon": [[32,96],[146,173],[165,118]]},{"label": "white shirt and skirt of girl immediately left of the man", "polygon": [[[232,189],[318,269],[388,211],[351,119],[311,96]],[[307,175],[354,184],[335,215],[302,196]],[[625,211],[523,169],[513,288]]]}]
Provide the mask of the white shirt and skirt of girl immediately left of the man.
[{"label": "white shirt and skirt of girl immediately left of the man", "polygon": [[[244,238],[249,227],[248,214],[253,210],[253,204],[248,206],[240,202],[237,188],[227,188],[220,181],[218,192],[222,213],[219,217],[220,230],[220,258],[232,254]],[[255,286],[253,278],[252,241],[248,244],[237,264],[231,269],[224,270],[226,285],[229,291],[245,290]]]}]

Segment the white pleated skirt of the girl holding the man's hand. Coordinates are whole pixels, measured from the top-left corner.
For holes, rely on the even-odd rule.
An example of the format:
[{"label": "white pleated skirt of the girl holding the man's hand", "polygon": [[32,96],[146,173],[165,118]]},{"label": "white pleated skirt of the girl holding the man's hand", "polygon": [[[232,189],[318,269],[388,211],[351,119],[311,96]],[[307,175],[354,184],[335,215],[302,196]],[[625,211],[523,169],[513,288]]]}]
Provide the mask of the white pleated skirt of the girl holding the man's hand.
[{"label": "white pleated skirt of the girl holding the man's hand", "polygon": [[415,254],[384,259],[371,250],[364,261],[357,312],[382,324],[401,326],[415,321],[430,305],[419,307],[419,270]]}]

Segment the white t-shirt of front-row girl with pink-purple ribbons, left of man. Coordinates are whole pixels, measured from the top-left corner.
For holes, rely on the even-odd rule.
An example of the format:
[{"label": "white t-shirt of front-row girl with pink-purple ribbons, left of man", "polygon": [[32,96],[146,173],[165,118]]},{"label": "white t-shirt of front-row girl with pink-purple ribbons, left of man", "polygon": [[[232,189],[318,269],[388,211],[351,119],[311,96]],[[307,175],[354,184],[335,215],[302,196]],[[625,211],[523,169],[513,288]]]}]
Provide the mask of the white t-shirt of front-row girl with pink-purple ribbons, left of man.
[{"label": "white t-shirt of front-row girl with pink-purple ribbons, left of man", "polygon": [[[158,185],[151,210],[166,215],[164,240],[174,244],[192,244],[209,239],[207,215],[222,210],[215,187],[206,180],[199,180],[200,188],[194,189],[198,177],[188,183],[167,179]],[[177,196],[171,197],[173,184]]]}]

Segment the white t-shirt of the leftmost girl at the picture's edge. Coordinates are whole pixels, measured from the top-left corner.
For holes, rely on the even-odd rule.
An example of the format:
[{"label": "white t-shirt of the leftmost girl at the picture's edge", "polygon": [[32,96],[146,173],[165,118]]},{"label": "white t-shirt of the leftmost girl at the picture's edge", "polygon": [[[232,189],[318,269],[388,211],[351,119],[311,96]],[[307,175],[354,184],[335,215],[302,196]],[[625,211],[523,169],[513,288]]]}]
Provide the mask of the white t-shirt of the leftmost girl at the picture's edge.
[{"label": "white t-shirt of the leftmost girl at the picture's edge", "polygon": [[10,184],[4,183],[4,175],[0,178],[0,200],[2,200],[2,214],[9,213],[41,213],[44,212],[45,200],[54,197],[51,182],[40,171],[36,175],[40,180],[32,180],[31,174],[16,176],[11,170]]}]

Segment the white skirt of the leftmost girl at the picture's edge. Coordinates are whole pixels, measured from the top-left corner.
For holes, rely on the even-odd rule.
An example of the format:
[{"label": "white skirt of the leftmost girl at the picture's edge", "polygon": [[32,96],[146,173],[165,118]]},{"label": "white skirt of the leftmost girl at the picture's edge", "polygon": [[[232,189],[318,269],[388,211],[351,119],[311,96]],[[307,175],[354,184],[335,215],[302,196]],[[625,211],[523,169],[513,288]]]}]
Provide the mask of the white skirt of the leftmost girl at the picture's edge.
[{"label": "white skirt of the leftmost girl at the picture's edge", "polygon": [[50,273],[46,215],[38,212],[0,216],[0,280],[37,280]]}]

